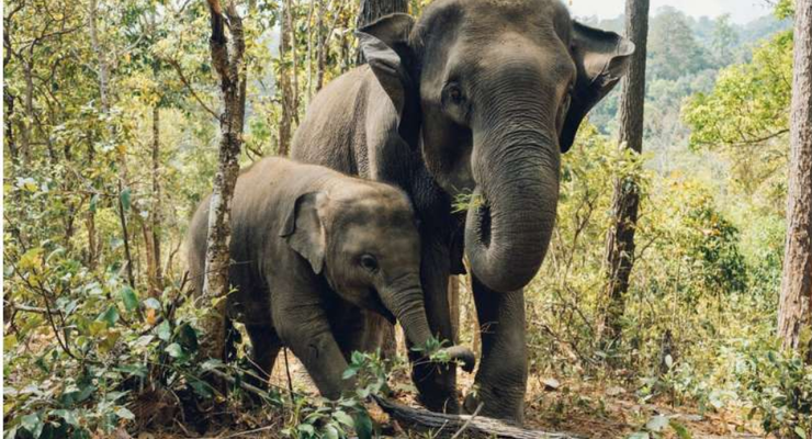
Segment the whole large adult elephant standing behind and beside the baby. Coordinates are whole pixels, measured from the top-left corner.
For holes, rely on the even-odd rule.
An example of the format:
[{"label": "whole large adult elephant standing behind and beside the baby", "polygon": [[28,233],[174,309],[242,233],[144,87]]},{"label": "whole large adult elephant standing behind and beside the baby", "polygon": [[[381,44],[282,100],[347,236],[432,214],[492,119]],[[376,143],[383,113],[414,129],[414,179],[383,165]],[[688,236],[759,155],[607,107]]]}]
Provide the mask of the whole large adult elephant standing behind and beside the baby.
[{"label": "whole large adult elephant standing behind and beside the baby", "polygon": [[[369,65],[316,95],[292,156],[408,193],[429,324],[444,338],[448,278],[467,256],[483,326],[482,414],[521,421],[521,289],[552,234],[560,154],[625,72],[633,45],[574,22],[557,0],[437,0],[417,22],[393,14],[358,35]],[[484,203],[454,215],[463,193]],[[429,408],[458,407],[453,370],[417,364],[413,376]],[[465,408],[476,405],[469,395]]]}]

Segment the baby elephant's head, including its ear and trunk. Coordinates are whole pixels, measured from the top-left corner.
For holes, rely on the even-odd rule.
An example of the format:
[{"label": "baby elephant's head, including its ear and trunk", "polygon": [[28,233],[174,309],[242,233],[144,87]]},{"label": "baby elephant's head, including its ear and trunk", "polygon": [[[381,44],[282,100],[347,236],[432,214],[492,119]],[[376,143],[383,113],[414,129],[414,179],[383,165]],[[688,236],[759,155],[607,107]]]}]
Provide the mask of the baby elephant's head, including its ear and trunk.
[{"label": "baby elephant's head, including its ear and trunk", "polygon": [[[303,194],[280,236],[341,299],[397,319],[413,345],[427,345],[432,334],[420,285],[420,238],[405,193],[364,181]],[[446,351],[473,369],[467,348]]]}]

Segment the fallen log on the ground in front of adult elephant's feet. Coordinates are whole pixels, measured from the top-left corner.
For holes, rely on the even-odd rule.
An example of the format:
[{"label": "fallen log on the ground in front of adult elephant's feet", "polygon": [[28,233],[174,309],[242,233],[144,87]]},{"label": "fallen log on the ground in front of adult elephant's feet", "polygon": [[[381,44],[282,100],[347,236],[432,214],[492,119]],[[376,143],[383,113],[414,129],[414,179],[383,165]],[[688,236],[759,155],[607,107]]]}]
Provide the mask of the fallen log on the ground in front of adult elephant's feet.
[{"label": "fallen log on the ground in front of adult elephant's feet", "polygon": [[432,438],[500,438],[500,439],[583,439],[568,432],[528,430],[501,420],[476,415],[447,415],[409,407],[394,401],[375,397],[375,402],[392,419],[408,430],[431,431]]}]

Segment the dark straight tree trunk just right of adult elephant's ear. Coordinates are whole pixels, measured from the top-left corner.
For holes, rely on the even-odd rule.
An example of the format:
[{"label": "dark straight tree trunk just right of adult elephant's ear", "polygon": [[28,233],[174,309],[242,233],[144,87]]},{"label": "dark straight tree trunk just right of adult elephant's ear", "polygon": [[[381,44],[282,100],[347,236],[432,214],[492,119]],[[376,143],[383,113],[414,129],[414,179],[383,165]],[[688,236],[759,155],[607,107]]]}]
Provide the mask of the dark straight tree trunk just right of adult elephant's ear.
[{"label": "dark straight tree trunk just right of adult elephant's ear", "polygon": [[[649,33],[649,0],[627,0],[625,33],[636,49],[623,78],[620,100],[619,147],[640,154],[643,149],[643,109],[645,100],[645,45]],[[607,235],[606,267],[608,284],[605,308],[598,331],[602,339],[620,336],[623,296],[629,290],[629,278],[634,264],[634,229],[638,224],[640,192],[636,177],[614,181],[612,200],[613,223]]]}]

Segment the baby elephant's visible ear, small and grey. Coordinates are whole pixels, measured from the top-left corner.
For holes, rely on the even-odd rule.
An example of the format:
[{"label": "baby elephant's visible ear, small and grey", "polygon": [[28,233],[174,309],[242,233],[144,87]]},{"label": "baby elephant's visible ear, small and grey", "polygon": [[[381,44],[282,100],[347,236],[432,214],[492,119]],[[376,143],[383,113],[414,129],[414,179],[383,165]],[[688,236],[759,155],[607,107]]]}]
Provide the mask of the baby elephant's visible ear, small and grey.
[{"label": "baby elephant's visible ear, small and grey", "polygon": [[324,269],[324,255],[327,237],[319,211],[327,195],[322,192],[308,192],[296,198],[287,213],[279,236],[305,258],[316,274]]}]

